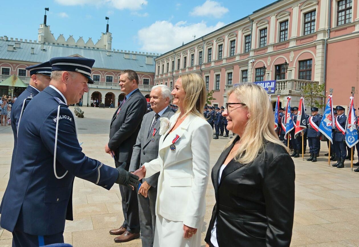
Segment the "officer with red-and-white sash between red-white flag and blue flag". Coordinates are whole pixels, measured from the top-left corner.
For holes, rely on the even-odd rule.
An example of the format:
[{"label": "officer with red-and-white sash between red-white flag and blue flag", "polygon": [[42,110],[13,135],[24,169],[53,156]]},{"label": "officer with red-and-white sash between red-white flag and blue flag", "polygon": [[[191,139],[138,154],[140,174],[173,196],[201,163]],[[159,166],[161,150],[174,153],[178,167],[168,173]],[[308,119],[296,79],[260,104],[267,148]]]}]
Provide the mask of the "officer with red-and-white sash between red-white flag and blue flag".
[{"label": "officer with red-and-white sash between red-white flag and blue flag", "polygon": [[321,132],[318,131],[320,121],[322,120],[321,115],[318,114],[318,108],[312,107],[312,115],[308,119],[308,145],[309,152],[311,157],[307,159],[308,161],[317,162],[317,156],[320,146],[320,135]]}]

